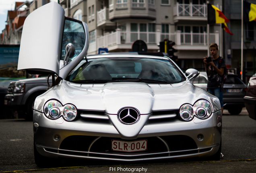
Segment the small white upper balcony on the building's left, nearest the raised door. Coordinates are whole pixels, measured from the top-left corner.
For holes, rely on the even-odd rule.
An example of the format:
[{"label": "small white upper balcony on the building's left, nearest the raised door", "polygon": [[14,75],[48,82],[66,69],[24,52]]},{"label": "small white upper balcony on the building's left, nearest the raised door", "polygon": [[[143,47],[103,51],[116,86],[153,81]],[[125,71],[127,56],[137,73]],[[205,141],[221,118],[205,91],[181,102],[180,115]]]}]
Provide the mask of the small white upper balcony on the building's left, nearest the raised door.
[{"label": "small white upper balcony on the building's left, nearest the raised door", "polygon": [[97,12],[97,27],[106,28],[107,26],[116,26],[116,24],[109,20],[109,9],[104,7]]}]

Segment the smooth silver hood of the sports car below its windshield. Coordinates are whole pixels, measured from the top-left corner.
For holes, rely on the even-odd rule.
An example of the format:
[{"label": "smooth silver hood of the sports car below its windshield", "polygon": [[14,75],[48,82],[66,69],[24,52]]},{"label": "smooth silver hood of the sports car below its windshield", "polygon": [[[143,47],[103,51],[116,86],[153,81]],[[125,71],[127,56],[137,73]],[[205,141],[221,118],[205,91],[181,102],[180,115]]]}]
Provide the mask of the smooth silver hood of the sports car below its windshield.
[{"label": "smooth silver hood of the sports car below its windshield", "polygon": [[45,97],[45,101],[57,99],[63,105],[72,103],[77,109],[105,111],[113,115],[123,107],[134,107],[142,115],[158,110],[175,110],[180,109],[184,103],[194,105],[199,99],[213,101],[214,110],[220,109],[217,97],[195,87],[189,80],[178,84],[74,84],[62,80],[61,84],[47,91],[42,97]]}]

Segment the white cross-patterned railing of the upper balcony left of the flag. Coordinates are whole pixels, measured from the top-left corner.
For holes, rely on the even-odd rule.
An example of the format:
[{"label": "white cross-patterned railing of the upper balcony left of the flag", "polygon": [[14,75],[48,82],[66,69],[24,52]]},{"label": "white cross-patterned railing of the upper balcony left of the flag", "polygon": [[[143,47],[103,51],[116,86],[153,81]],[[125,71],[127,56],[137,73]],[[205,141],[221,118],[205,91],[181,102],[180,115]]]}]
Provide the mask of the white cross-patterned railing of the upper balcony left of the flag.
[{"label": "white cross-patterned railing of the upper balcony left of the flag", "polygon": [[179,4],[174,6],[175,16],[207,16],[207,5],[202,4]]}]

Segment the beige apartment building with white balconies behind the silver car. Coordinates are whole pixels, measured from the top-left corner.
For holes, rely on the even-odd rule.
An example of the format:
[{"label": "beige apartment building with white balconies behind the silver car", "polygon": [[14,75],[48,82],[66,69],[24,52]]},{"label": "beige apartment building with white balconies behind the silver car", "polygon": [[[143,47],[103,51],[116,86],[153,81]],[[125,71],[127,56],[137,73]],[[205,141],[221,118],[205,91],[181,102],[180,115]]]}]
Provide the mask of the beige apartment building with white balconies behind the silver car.
[{"label": "beige apartment building with white balconies behind the silver car", "polygon": [[[88,54],[99,48],[109,52],[132,51],[136,40],[157,52],[159,42],[175,42],[176,61],[181,68],[204,69],[207,55],[206,0],[60,0],[68,17],[83,20],[89,27]],[[221,7],[222,0],[209,3]],[[220,24],[210,25],[209,42],[220,45]]]}]

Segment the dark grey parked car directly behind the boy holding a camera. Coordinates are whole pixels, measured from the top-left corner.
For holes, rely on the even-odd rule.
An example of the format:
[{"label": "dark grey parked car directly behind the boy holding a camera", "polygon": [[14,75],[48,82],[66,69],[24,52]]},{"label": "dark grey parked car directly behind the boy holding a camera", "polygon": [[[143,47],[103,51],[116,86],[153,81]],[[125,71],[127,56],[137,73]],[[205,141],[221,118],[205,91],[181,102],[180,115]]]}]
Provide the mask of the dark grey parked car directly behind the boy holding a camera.
[{"label": "dark grey parked car directly behind the boy holding a camera", "polygon": [[[199,76],[191,82],[207,90],[206,72],[200,72]],[[227,109],[231,115],[238,115],[245,107],[243,98],[246,95],[246,89],[246,84],[236,74],[228,73],[223,87],[223,103],[224,109]]]}]

